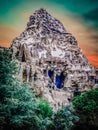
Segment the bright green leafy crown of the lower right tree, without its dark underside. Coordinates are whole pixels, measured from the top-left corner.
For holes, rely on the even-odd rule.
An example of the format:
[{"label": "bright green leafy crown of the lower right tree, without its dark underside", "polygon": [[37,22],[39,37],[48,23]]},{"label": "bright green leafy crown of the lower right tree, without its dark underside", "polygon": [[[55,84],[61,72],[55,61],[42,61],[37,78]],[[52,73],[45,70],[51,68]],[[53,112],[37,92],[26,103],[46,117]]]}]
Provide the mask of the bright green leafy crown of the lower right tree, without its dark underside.
[{"label": "bright green leafy crown of the lower right tree, without its dark underside", "polygon": [[98,112],[98,88],[77,96],[73,105],[77,110],[84,113]]}]

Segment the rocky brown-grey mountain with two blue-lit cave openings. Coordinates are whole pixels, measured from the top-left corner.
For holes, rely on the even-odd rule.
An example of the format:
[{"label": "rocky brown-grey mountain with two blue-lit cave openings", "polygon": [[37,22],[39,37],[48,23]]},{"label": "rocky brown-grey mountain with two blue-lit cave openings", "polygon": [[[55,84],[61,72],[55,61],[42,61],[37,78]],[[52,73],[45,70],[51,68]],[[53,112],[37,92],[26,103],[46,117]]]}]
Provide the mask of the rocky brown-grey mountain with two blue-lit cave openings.
[{"label": "rocky brown-grey mountain with two blue-lit cave openings", "polygon": [[96,69],[83,55],[75,37],[45,9],[30,16],[24,32],[11,45],[19,61],[19,77],[54,110],[69,103],[74,89],[95,85]]}]

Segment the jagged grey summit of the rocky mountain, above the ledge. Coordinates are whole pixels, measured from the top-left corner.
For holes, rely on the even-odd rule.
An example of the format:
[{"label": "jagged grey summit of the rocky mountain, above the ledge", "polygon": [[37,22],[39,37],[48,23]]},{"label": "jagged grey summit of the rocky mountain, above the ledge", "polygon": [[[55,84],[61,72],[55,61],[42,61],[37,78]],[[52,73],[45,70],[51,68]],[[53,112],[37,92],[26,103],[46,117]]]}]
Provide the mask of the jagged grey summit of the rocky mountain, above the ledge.
[{"label": "jagged grey summit of the rocky mountain, above the ledge", "polygon": [[54,33],[66,33],[63,24],[43,8],[36,10],[34,14],[30,16],[27,29],[36,28],[38,26],[47,28],[49,31]]}]

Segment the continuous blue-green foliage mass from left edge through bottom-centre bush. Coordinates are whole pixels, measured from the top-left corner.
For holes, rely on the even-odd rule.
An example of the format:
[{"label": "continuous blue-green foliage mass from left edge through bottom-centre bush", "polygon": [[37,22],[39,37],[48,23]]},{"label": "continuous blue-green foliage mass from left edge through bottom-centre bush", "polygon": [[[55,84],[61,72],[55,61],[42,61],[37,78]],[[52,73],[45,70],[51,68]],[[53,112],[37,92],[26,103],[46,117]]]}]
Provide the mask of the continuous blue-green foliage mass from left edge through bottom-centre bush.
[{"label": "continuous blue-green foliage mass from left edge through bottom-centre bush", "polygon": [[78,120],[71,106],[53,113],[35,97],[29,84],[16,77],[18,62],[9,50],[0,51],[0,130],[68,130]]}]

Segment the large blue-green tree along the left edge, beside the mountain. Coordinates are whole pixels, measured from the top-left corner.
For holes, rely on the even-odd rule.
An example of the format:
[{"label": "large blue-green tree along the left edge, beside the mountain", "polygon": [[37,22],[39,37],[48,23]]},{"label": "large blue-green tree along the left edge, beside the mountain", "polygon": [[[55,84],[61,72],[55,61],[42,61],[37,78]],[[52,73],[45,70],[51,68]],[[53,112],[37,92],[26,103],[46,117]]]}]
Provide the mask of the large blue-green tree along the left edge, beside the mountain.
[{"label": "large blue-green tree along the left edge, beside the mountain", "polygon": [[0,52],[0,130],[46,130],[51,122],[43,112],[47,105],[16,78],[16,63],[10,50]]}]

